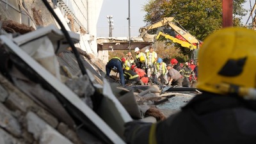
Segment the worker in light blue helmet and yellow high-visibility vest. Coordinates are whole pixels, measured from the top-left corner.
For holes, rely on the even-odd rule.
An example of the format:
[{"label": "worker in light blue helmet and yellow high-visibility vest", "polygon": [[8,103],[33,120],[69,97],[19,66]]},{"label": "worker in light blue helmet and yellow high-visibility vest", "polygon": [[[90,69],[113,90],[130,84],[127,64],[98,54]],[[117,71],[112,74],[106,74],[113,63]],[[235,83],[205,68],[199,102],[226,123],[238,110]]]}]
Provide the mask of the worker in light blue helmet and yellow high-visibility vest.
[{"label": "worker in light blue helmet and yellow high-visibility vest", "polygon": [[[163,62],[161,58],[157,59],[157,63],[154,65],[154,79],[153,83],[163,85],[163,84],[168,84],[168,79],[167,79],[167,69],[166,69],[166,63]],[[159,83],[160,79],[160,83]]]}]

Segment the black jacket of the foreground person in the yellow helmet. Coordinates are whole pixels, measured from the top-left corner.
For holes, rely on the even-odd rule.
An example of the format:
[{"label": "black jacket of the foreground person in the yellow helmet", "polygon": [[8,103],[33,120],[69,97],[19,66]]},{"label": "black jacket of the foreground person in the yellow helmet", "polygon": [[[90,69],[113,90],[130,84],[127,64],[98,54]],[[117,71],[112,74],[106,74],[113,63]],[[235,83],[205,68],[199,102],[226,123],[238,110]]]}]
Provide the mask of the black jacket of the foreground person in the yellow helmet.
[{"label": "black jacket of the foreground person in the yellow helmet", "polygon": [[[204,92],[180,113],[157,123],[158,144],[256,143],[256,101]],[[149,143],[150,125],[140,127],[132,143]]]}]

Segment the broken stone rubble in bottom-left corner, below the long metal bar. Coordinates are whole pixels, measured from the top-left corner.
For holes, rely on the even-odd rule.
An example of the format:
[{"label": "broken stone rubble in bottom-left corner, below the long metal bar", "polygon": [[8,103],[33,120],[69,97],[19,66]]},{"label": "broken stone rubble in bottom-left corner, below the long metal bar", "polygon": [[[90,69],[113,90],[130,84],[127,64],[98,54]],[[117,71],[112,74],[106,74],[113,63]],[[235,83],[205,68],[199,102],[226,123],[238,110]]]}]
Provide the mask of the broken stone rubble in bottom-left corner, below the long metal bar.
[{"label": "broken stone rubble in bottom-left corner, below the long metal bar", "polygon": [[72,127],[60,122],[1,74],[0,87],[0,143],[81,143]]}]

